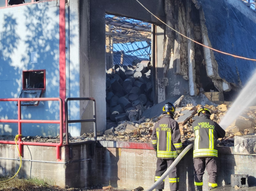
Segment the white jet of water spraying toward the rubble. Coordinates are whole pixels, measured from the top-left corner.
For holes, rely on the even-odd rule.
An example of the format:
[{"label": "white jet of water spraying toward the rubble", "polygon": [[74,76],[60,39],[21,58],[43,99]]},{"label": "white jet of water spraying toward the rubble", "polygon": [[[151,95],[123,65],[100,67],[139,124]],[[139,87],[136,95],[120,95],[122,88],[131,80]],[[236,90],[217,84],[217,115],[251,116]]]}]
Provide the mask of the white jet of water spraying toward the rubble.
[{"label": "white jet of water spraying toward the rubble", "polygon": [[253,101],[256,101],[256,73],[252,76],[250,81],[246,84],[244,89],[240,92],[235,102],[228,109],[228,112],[220,121],[220,127],[226,129],[237,117],[244,111],[244,109]]}]

